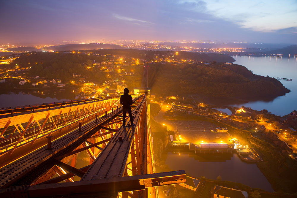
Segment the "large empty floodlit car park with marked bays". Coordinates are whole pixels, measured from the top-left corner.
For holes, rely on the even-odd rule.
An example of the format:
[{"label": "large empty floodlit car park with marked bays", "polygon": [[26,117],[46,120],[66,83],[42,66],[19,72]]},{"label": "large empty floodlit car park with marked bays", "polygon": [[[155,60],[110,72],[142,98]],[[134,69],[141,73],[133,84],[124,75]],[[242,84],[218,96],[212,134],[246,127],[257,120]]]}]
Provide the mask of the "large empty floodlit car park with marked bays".
[{"label": "large empty floodlit car park with marked bays", "polygon": [[[182,141],[194,144],[218,142],[230,144],[231,137],[227,133],[216,132],[217,126],[207,121],[175,121]],[[213,131],[211,131],[213,130]]]}]

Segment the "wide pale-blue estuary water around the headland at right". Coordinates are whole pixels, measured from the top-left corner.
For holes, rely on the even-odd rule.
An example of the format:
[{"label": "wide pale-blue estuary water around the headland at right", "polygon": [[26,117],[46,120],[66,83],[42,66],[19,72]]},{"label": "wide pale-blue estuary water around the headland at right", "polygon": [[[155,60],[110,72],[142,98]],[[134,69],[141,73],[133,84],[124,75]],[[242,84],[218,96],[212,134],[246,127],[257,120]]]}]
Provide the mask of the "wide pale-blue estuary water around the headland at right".
[{"label": "wide pale-blue estuary water around the headland at right", "polygon": [[[236,107],[251,107],[255,110],[267,109],[276,115],[287,115],[293,110],[297,110],[297,56],[282,57],[282,56],[233,56],[236,60],[234,64],[239,64],[247,67],[256,75],[291,78],[293,81],[280,80],[280,82],[291,90],[286,96],[279,96],[273,100],[267,99],[248,102],[234,103]],[[231,106],[232,106],[231,105]]]}]

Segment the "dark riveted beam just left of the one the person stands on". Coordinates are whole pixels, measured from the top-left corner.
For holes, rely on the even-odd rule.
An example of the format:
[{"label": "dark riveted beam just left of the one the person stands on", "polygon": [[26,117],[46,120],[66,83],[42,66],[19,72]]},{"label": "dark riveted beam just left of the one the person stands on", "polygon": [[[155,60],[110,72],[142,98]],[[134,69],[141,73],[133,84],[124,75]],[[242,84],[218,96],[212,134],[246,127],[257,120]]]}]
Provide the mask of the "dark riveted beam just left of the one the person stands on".
[{"label": "dark riveted beam just left of the one the person stands on", "polygon": [[[1,175],[6,175],[6,177],[0,177],[0,188],[32,183],[52,167],[52,163],[50,162],[55,158],[59,158],[59,156],[65,154],[69,156],[69,154],[73,155],[78,153],[78,151],[73,150],[83,144],[90,137],[94,136],[94,134],[101,129],[100,125],[114,120],[120,112],[121,109],[118,109],[113,111],[113,113],[108,113],[107,116],[99,118],[97,122],[95,122],[95,119],[89,121],[82,126],[81,132],[79,132],[78,129],[75,129],[71,133],[54,140],[52,142],[51,150],[47,150],[47,145],[45,145],[40,149],[31,152],[29,155],[1,168]],[[109,139],[105,139],[104,141],[108,142]],[[100,143],[102,144],[102,142]],[[94,143],[85,148],[91,148],[95,145],[99,145],[99,143]],[[83,148],[83,150],[85,150],[85,148]]]}]

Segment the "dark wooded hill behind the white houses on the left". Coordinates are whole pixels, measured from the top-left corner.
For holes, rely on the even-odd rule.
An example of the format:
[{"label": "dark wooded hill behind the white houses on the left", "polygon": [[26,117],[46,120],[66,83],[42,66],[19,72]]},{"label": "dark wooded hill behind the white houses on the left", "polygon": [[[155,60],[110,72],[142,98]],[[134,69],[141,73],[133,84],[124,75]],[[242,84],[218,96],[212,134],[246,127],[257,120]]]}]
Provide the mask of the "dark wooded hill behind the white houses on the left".
[{"label": "dark wooded hill behind the white houses on the left", "polygon": [[26,71],[27,76],[36,75],[48,79],[59,78],[62,79],[62,82],[68,82],[72,79],[73,73],[79,73],[91,79],[103,78],[102,72],[98,73],[97,67],[94,67],[94,70],[87,69],[88,66],[93,65],[94,61],[102,60],[103,57],[88,56],[82,53],[32,52],[23,53],[20,58],[10,63],[10,68],[14,68],[16,65],[20,68],[31,67]]}]

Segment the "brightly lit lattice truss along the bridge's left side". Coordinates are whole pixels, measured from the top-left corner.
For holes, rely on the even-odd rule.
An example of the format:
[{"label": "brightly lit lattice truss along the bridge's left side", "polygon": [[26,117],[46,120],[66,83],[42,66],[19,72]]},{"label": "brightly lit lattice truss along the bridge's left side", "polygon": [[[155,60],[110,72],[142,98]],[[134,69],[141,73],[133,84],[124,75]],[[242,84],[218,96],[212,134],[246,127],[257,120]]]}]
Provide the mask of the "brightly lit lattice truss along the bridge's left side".
[{"label": "brightly lit lattice truss along the bridge's left side", "polygon": [[[133,97],[135,98],[136,95]],[[89,118],[89,115],[102,115],[106,110],[110,111],[113,108],[118,108],[119,106],[116,106],[119,105],[118,100],[119,97],[89,99],[76,101],[77,104],[75,105],[63,106],[57,104],[58,107],[52,109],[42,109],[14,115],[0,115],[0,138],[2,137],[0,139],[0,153],[11,149],[10,152],[12,153],[21,144],[31,142],[33,139],[32,144],[34,144],[37,138],[42,138],[44,135],[49,135],[58,130],[62,131],[65,126],[71,127],[73,123],[79,120],[84,121],[87,117]],[[86,104],[85,102],[89,103]],[[18,126],[22,127],[22,123],[29,124],[32,117],[34,118],[33,123],[31,123],[24,134],[20,133]],[[39,123],[43,123],[42,126]],[[15,126],[15,129],[13,126]],[[16,129],[20,134],[15,133]]]}]

